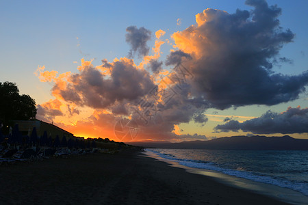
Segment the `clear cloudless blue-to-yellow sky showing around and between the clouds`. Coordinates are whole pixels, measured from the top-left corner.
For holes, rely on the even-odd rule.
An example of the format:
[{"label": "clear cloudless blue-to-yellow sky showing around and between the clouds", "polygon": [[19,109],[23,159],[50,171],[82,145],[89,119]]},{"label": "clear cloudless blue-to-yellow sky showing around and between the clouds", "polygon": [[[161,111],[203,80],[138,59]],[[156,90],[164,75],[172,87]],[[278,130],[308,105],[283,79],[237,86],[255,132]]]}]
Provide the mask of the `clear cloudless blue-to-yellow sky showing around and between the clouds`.
[{"label": "clear cloudless blue-to-yellow sky showing around and between the clouds", "polygon": [[[81,59],[92,60],[94,66],[101,59],[113,61],[127,56],[130,46],[125,42],[125,29],[131,25],[145,27],[152,32],[147,44],[152,47],[155,31],[166,31],[164,39],[177,31],[194,25],[195,15],[206,8],[234,13],[236,9],[251,10],[245,1],[0,1],[0,81],[15,82],[21,93],[29,94],[38,104],[52,99],[53,83],[42,83],[34,72],[38,66],[47,70],[77,72]],[[294,42],[285,44],[281,57],[291,63],[279,63],[274,72],[300,74],[308,70],[308,1],[268,1],[282,9],[280,26],[296,34]],[[181,24],[177,25],[177,19]],[[162,57],[172,46],[162,45]],[[141,59],[134,57],[136,62]],[[286,111],[287,107],[304,108],[308,105],[307,92],[298,100],[278,105],[249,105],[223,111],[211,108],[209,115],[240,115],[259,117],[269,109]],[[212,133],[215,121],[223,117],[211,116],[204,126],[194,122],[179,124],[182,134],[218,136],[238,133]],[[212,119],[212,120],[211,120]],[[217,120],[216,119],[216,120]],[[244,133],[246,135],[246,133]],[[307,133],[296,137],[308,138]]]}]

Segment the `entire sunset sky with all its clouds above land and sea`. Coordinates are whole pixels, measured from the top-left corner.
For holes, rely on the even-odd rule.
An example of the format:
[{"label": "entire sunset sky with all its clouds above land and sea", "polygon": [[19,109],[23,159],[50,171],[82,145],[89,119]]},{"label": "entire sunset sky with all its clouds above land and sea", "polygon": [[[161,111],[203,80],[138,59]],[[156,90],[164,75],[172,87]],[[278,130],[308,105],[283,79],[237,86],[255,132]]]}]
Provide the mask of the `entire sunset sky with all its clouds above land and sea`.
[{"label": "entire sunset sky with all its clouds above land and sea", "polygon": [[308,139],[308,1],[0,1],[0,82],[80,137]]}]

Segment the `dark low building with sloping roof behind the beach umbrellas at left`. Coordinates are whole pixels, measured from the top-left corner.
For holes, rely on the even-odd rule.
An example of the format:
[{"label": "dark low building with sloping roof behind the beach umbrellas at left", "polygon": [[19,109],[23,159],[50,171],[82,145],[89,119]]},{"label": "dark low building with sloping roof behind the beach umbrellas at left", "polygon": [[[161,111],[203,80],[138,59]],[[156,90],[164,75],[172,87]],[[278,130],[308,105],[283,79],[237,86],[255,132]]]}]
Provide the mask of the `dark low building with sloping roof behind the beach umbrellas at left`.
[{"label": "dark low building with sloping roof behind the beach umbrellas at left", "polygon": [[41,120],[14,120],[14,124],[18,124],[18,129],[22,135],[29,135],[29,132],[32,132],[33,128],[36,127],[38,136],[42,136],[44,131],[46,131],[47,136],[51,136],[53,139],[57,135],[60,137],[60,139],[64,136],[66,139],[74,137],[72,133],[64,131],[64,129],[55,126],[54,124],[43,122]]}]

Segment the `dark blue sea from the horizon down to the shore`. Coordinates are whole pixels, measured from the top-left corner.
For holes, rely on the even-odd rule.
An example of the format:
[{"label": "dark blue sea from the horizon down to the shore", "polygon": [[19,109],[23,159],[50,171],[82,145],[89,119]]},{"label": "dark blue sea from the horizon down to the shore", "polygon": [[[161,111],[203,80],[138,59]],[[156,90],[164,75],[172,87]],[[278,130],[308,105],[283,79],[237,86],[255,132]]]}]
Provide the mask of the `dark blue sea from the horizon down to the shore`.
[{"label": "dark blue sea from the horizon down to the shore", "polygon": [[308,151],[146,149],[186,167],[293,189],[308,196]]}]

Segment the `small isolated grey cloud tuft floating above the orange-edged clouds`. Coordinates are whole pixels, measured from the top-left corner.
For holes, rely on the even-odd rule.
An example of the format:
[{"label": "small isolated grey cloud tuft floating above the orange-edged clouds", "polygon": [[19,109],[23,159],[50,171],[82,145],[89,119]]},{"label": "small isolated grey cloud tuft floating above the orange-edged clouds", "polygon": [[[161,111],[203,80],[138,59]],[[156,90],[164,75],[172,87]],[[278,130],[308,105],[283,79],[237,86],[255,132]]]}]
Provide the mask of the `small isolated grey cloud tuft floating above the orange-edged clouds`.
[{"label": "small isolated grey cloud tuft floating above the orange-edged clouds", "polygon": [[138,29],[136,26],[127,27],[126,31],[126,42],[131,45],[129,57],[133,57],[136,53],[139,57],[148,55],[149,46],[146,45],[146,42],[151,39],[151,31],[144,27]]}]

